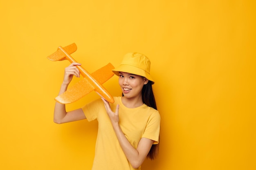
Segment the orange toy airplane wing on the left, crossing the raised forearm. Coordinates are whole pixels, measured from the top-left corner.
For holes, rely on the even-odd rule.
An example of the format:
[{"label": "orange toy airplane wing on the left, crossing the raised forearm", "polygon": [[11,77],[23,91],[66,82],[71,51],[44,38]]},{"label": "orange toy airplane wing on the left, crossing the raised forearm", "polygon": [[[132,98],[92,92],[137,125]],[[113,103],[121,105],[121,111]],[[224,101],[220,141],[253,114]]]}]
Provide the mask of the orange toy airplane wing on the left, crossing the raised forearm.
[{"label": "orange toy airplane wing on the left, crossing the raised forearm", "polygon": [[81,99],[94,90],[92,84],[86,78],[80,80],[72,87],[68,88],[63,94],[57,96],[55,100],[61,104],[69,104]]}]

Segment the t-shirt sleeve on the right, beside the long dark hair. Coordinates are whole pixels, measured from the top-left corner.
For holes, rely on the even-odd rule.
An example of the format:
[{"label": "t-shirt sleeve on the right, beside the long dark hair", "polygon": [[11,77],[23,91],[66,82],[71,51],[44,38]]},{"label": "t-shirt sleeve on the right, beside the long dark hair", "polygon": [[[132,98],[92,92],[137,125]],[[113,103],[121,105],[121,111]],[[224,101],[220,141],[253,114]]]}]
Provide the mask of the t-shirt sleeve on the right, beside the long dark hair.
[{"label": "t-shirt sleeve on the right, beside the long dark hair", "polygon": [[142,137],[153,140],[153,144],[158,144],[159,142],[160,119],[158,111],[150,115],[144,134],[142,135]]}]

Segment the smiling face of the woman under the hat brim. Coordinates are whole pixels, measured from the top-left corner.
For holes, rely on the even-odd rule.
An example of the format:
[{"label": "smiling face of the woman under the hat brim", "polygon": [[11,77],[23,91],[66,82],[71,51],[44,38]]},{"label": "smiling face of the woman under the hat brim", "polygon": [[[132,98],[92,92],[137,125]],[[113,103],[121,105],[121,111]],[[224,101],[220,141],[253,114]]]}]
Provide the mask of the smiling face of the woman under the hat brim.
[{"label": "smiling face of the woman under the hat brim", "polygon": [[144,84],[148,83],[148,79],[140,75],[119,72],[119,85],[122,89],[124,97],[141,97]]}]

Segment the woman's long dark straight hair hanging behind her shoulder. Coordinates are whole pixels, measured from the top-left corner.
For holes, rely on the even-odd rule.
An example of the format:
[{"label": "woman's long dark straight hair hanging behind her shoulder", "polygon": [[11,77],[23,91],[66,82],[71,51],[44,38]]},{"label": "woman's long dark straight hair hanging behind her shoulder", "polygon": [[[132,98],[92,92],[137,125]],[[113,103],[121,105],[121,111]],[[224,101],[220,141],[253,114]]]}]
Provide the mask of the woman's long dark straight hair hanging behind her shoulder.
[{"label": "woman's long dark straight hair hanging behind her shoulder", "polygon": [[[124,94],[122,94],[124,96]],[[154,108],[157,110],[157,104],[155,102],[155,96],[152,89],[152,82],[148,80],[147,84],[144,84],[142,88],[142,101],[149,107]],[[159,152],[159,142],[158,144],[153,144],[148,152],[147,158],[155,159]]]}]

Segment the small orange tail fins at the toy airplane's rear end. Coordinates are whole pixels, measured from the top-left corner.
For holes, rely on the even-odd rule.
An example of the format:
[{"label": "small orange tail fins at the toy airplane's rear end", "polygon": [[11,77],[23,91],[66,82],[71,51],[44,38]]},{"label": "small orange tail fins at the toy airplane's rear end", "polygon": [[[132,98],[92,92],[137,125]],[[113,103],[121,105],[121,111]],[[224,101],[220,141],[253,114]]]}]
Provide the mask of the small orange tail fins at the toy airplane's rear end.
[{"label": "small orange tail fins at the toy airplane's rear end", "polygon": [[[63,47],[63,49],[68,54],[72,54],[77,50],[77,46],[75,43],[73,43],[73,44]],[[66,60],[65,57],[66,57],[66,54],[63,53],[63,51],[60,48],[58,48],[58,50],[55,53],[53,53],[52,55],[49,55],[47,58],[52,61],[61,61],[61,60]]]}]

